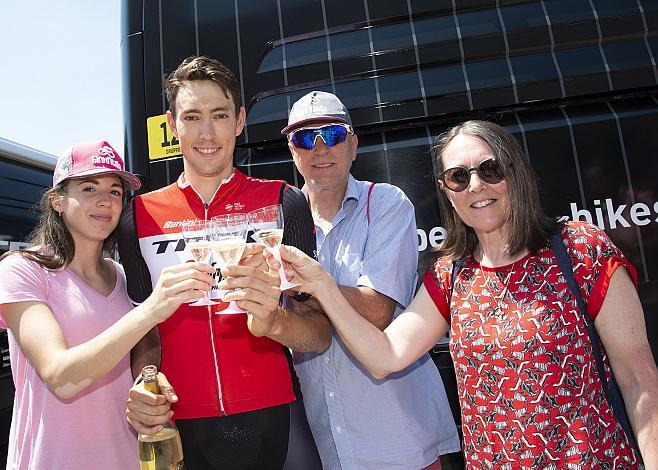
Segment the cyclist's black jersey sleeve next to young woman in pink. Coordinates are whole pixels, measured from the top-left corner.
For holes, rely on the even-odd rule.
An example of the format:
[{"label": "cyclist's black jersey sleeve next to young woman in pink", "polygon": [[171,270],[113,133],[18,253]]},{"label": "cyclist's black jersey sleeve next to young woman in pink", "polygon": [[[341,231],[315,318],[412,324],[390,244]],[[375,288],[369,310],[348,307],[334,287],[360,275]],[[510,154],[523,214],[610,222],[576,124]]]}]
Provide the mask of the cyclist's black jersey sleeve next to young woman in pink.
[{"label": "cyclist's black jersey sleeve next to young woman in pink", "polygon": [[117,242],[119,258],[126,273],[128,297],[133,304],[140,304],[151,295],[153,285],[151,284],[151,273],[139,247],[134,200],[121,214],[117,228]]}]

